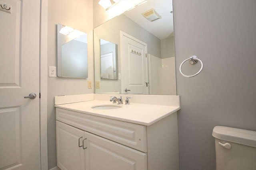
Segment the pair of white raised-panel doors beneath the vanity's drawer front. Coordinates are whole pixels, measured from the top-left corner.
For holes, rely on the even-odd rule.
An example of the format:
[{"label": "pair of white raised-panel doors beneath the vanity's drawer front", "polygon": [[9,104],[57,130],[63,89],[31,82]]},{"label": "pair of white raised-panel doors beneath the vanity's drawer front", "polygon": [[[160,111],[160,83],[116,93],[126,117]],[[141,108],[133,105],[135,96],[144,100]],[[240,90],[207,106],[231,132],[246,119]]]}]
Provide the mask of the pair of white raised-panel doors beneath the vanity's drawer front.
[{"label": "pair of white raised-panel doors beneath the vanity's drawer front", "polygon": [[[56,121],[62,170],[146,170],[146,153]],[[80,145],[80,146],[79,146]]]}]

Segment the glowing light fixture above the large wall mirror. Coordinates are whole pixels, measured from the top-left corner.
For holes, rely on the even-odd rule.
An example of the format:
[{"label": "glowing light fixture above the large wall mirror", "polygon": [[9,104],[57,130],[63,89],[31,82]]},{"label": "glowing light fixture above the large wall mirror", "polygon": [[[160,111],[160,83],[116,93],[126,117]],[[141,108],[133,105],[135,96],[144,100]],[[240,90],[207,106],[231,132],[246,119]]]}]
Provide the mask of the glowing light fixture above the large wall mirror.
[{"label": "glowing light fixture above the large wall mirror", "polygon": [[99,4],[107,11],[120,15],[147,0],[100,0]]}]

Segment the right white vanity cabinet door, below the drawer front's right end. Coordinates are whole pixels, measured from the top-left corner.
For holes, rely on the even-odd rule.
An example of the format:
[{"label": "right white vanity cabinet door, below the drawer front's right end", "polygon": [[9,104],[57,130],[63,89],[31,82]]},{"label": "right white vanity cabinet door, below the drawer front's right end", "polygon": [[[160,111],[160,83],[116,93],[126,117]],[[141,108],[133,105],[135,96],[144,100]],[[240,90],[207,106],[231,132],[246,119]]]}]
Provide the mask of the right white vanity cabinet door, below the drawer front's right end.
[{"label": "right white vanity cabinet door, below the drawer front's right end", "polygon": [[147,170],[147,154],[85,132],[86,170]]}]

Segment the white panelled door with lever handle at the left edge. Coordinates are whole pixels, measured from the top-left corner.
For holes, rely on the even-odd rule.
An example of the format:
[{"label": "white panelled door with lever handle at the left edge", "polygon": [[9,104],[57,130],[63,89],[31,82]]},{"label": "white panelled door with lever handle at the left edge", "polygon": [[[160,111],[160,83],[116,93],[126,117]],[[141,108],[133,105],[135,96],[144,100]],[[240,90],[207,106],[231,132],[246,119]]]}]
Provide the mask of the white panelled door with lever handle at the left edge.
[{"label": "white panelled door with lever handle at the left edge", "polygon": [[40,0],[0,4],[0,169],[40,170]]}]

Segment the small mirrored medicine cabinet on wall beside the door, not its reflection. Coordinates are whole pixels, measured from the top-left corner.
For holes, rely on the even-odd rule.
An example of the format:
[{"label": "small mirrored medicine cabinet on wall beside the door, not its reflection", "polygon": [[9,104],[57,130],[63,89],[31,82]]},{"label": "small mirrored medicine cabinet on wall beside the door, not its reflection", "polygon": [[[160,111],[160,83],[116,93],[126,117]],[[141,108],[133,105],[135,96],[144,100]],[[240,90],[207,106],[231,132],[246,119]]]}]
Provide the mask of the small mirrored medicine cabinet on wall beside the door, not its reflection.
[{"label": "small mirrored medicine cabinet on wall beside the door, not its reflection", "polygon": [[88,78],[87,34],[57,24],[58,77]]}]

